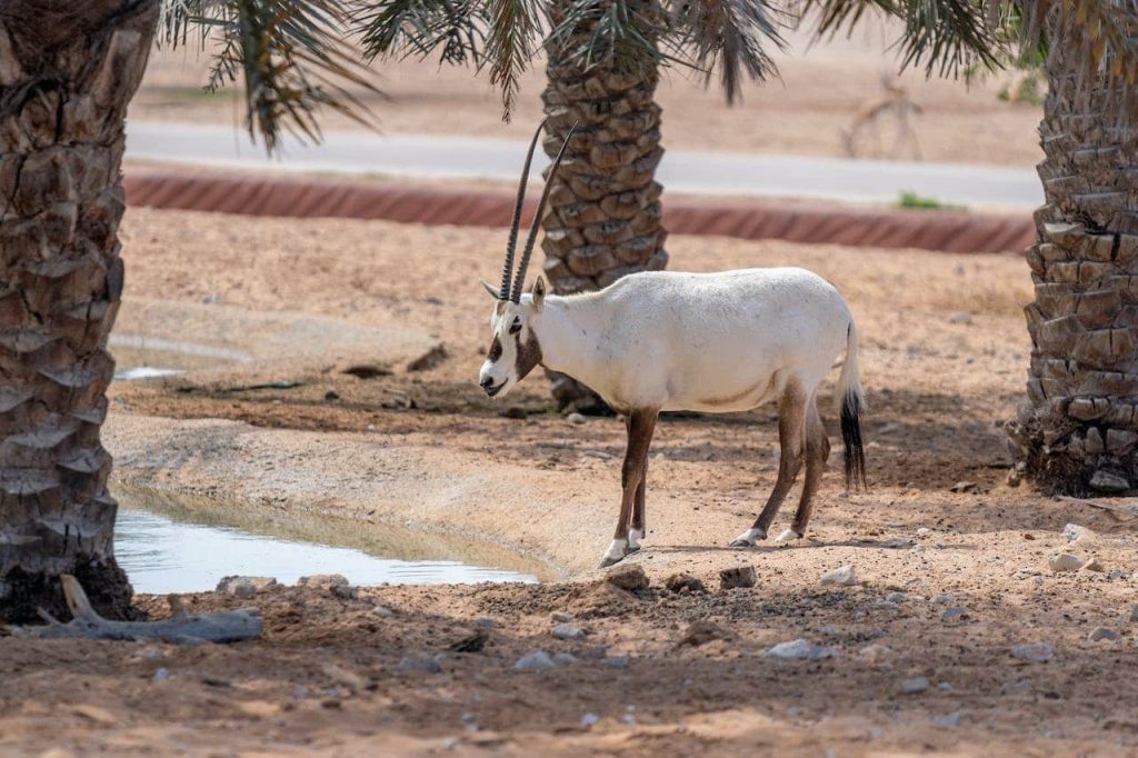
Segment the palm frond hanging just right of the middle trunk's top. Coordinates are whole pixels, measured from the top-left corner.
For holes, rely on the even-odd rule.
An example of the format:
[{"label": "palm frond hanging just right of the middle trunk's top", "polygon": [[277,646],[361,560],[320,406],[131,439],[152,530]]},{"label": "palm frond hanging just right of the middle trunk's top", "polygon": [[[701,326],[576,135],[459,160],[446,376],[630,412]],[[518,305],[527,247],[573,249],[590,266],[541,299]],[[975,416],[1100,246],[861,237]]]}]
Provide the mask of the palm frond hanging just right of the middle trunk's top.
[{"label": "palm frond hanging just right of the middle trunk's top", "polygon": [[669,18],[670,42],[708,82],[719,72],[728,104],[739,97],[744,74],[753,81],[777,74],[767,43],[783,49],[782,30],[791,22],[767,0],[683,0],[669,7]]}]

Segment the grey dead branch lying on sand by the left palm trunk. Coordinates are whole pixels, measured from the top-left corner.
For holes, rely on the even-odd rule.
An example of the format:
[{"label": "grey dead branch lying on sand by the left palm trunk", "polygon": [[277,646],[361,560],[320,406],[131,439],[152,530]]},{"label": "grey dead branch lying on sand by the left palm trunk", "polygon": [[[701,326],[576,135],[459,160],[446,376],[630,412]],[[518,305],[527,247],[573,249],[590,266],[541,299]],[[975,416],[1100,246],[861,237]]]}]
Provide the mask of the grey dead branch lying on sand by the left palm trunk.
[{"label": "grey dead branch lying on sand by the left palm trunk", "polygon": [[59,577],[64,598],[72,612],[72,620],[64,624],[40,609],[46,627],[16,627],[16,634],[38,636],[41,640],[156,640],[180,645],[204,642],[226,643],[261,636],[261,612],[242,608],[221,613],[191,616],[178,595],[168,595],[174,615],[162,621],[113,621],[99,616],[83,592],[79,579],[69,574]]}]

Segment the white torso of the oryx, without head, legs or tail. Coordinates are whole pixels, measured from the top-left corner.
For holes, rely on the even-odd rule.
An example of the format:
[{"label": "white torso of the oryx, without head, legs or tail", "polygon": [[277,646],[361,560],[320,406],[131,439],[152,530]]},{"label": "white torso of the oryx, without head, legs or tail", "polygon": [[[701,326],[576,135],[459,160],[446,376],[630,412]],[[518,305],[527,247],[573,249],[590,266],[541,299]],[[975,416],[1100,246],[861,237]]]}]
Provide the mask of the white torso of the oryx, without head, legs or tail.
[{"label": "white torso of the oryx, without head, legs or tail", "polygon": [[632,274],[599,293],[546,297],[528,326],[546,368],[618,411],[726,413],[777,397],[792,376],[813,395],[851,324],[830,282],[785,267]]}]

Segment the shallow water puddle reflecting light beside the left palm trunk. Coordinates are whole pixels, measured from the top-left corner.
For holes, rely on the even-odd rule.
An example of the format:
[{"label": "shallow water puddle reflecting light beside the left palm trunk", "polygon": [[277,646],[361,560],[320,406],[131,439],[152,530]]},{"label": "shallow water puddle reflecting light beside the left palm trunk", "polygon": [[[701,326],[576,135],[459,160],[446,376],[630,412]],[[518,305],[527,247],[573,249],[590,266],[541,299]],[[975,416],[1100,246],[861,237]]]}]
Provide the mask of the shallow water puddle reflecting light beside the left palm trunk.
[{"label": "shallow water puddle reflecting light beside the left palm trunk", "polygon": [[460,561],[381,558],[353,547],[195,524],[185,520],[184,512],[139,508],[130,493],[116,491],[116,496],[115,555],[135,592],[205,592],[231,575],[271,576],[282,584],[295,584],[302,576],[343,574],[361,586],[537,580],[529,574]]}]

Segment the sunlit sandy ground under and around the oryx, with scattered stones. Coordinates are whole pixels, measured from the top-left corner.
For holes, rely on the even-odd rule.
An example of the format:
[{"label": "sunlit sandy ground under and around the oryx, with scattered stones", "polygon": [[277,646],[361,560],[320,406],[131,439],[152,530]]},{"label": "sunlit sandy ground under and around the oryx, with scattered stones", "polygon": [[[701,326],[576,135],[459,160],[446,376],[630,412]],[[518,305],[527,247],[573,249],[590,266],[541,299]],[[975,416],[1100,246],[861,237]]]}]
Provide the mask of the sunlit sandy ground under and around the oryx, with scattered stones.
[{"label": "sunlit sandy ground under and around the oryx, with scattered stones", "polygon": [[[465,543],[473,559],[509,551],[555,580],[371,587],[356,599],[298,588],[192,596],[196,609],[262,610],[264,638],[230,648],[0,638],[0,755],[1138,749],[1133,520],[1005,483],[997,425],[1022,395],[1028,360],[1022,259],[670,239],[677,270],[793,263],[846,294],[873,407],[871,488],[846,495],[832,471],[810,539],[727,550],[773,485],[773,413],[667,418],[649,475],[650,534],[627,561],[651,586],[629,593],[594,568],[616,518],[620,423],[568,423],[539,377],[501,403],[473,384],[489,311],[477,278],[495,277],[502,239],[129,212],[119,335],[178,335],[179,307],[217,307],[238,324],[226,332],[232,349],[245,319],[414,339],[368,355],[329,333],[251,364],[116,384],[106,439],[118,481],[345,534],[396,522],[428,543]],[[154,300],[166,308],[147,311]],[[436,343],[450,357],[406,369]],[[343,373],[360,365],[379,376]],[[249,388],[269,382],[297,386]],[[973,486],[953,492],[957,483]],[[793,495],[778,528],[792,506]],[[1067,522],[1092,534],[1069,544]],[[1048,557],[1061,550],[1105,571],[1054,572]],[[856,585],[820,584],[847,563]],[[757,585],[720,591],[718,571],[736,566],[752,566]],[[679,571],[708,592],[667,591]],[[166,612],[160,599],[139,603]],[[552,613],[572,616],[585,637],[554,640]],[[710,627],[692,634],[696,621]],[[1099,626],[1119,638],[1090,641]],[[480,652],[450,650],[478,628],[488,629]],[[767,656],[797,638],[832,656]],[[1013,657],[1028,643],[1046,643],[1053,658]],[[577,660],[513,668],[535,650]],[[920,677],[926,691],[902,691]]]}]

